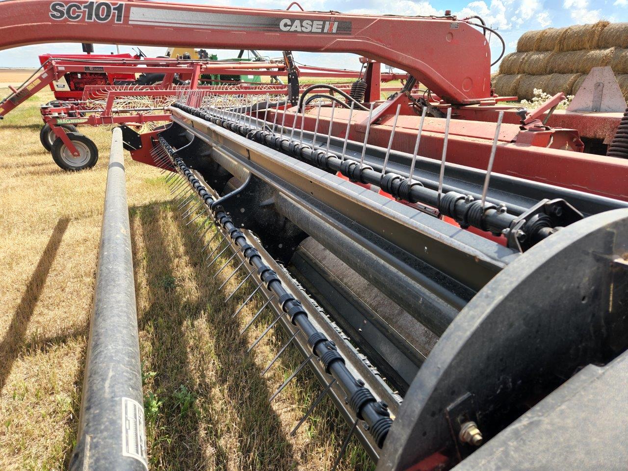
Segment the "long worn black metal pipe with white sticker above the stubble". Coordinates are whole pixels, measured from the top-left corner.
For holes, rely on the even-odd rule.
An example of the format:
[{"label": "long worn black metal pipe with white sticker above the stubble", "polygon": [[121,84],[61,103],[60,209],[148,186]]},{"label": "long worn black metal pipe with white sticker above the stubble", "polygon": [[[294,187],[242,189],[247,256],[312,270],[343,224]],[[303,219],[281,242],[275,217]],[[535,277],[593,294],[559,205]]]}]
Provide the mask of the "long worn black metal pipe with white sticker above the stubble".
[{"label": "long worn black metal pipe with white sticker above the stubble", "polygon": [[122,132],[114,129],[71,471],[145,471],[146,432]]}]

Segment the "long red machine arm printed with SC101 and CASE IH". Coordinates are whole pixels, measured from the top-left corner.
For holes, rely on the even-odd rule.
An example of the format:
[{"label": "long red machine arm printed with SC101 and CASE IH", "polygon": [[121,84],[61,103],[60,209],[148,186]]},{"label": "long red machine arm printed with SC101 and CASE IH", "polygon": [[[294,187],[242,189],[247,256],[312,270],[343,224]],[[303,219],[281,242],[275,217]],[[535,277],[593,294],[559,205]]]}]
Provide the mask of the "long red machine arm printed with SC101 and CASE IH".
[{"label": "long red machine arm printed with SC101 and CASE IH", "polygon": [[345,52],[401,68],[443,99],[471,104],[490,95],[490,49],[466,21],[310,11],[119,2],[0,2],[0,49],[43,42],[211,44]]}]

